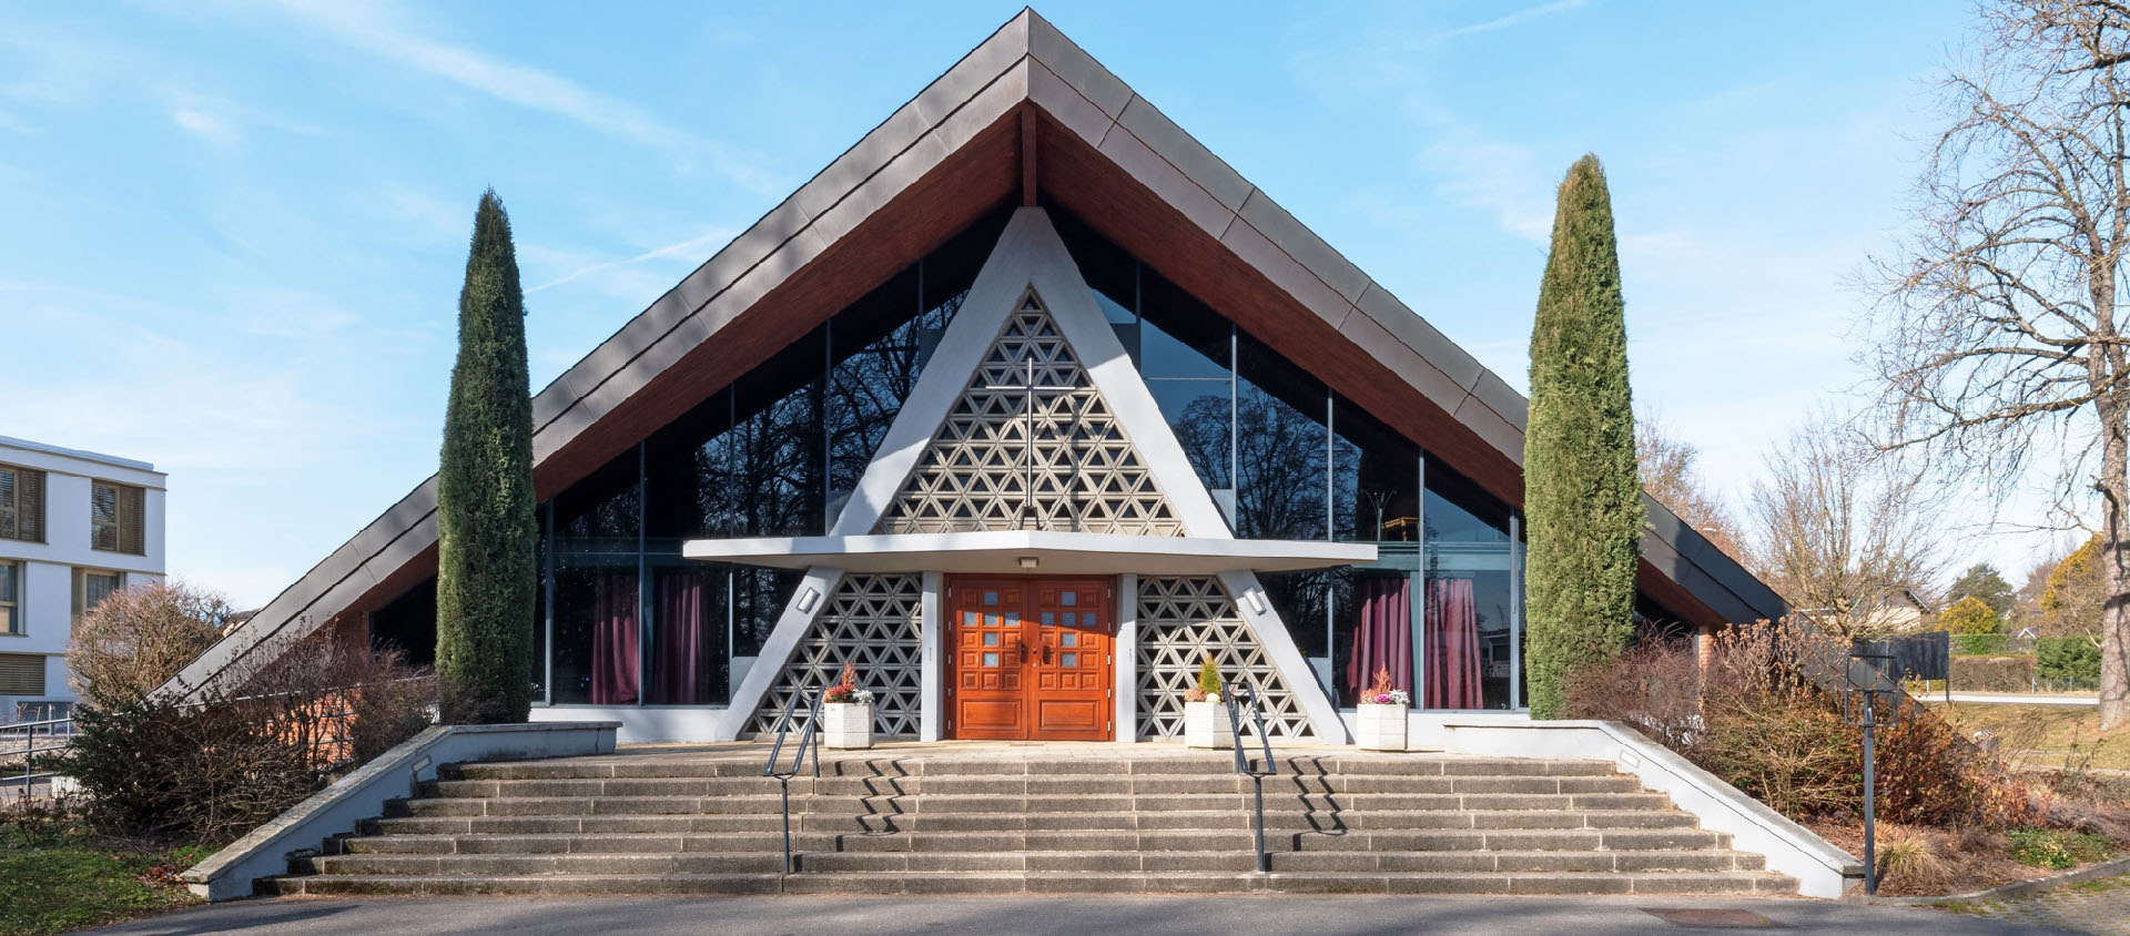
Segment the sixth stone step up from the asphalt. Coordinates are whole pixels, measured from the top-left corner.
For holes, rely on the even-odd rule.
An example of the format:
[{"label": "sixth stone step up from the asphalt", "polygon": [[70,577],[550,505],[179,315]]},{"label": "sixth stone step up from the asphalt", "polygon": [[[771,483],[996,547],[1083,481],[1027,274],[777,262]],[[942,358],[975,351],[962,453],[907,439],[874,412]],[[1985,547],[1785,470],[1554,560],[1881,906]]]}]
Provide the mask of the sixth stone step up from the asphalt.
[{"label": "sixth stone step up from the asphalt", "polygon": [[[1250,781],[1218,776],[801,776],[792,798],[816,796],[1218,796],[1248,793]],[[1636,793],[1632,776],[1269,776],[1265,796],[1331,793]],[[767,776],[620,776],[430,781],[420,798],[575,798],[575,796],[773,796]]]}]

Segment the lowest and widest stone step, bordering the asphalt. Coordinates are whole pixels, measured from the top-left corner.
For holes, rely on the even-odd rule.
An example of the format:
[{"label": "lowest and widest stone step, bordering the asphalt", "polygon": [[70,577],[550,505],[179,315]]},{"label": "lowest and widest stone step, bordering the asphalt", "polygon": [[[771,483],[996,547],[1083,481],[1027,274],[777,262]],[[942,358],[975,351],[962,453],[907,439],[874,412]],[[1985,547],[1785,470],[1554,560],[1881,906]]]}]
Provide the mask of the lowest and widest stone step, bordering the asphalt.
[{"label": "lowest and widest stone step, bordering the asphalt", "polygon": [[903,870],[780,874],[302,874],[283,896],[660,893],[1796,893],[1762,870],[1727,872],[1071,872]]}]

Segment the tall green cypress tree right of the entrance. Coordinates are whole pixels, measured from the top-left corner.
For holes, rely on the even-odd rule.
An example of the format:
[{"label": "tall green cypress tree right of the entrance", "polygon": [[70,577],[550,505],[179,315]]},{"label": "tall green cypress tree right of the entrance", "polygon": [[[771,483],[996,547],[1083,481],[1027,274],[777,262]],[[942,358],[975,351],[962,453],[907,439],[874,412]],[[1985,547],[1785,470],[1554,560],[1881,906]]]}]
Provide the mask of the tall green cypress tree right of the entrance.
[{"label": "tall green cypress tree right of the entrance", "polygon": [[1561,717],[1578,666],[1634,636],[1642,485],[1627,394],[1627,317],[1604,168],[1568,168],[1531,325],[1531,415],[1523,436],[1531,717]]}]

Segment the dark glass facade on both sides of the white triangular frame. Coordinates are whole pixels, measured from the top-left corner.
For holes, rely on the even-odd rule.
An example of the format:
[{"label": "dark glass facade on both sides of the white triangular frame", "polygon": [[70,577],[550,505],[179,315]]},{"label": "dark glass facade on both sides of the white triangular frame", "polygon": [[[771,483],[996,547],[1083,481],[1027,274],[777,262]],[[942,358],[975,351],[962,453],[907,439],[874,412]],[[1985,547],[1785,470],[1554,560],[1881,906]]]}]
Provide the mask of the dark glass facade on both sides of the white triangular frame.
[{"label": "dark glass facade on both sides of the white triangular frame", "polygon": [[[1378,547],[1370,566],[1259,576],[1327,693],[1353,706],[1387,672],[1416,706],[1521,708],[1521,517],[1080,221],[1052,219],[1233,534]],[[547,704],[731,700],[799,572],[688,562],[682,545],[826,532],[1003,223],[958,234],[541,504]],[[377,640],[409,649],[424,625],[432,642],[435,581],[373,615]]]}]

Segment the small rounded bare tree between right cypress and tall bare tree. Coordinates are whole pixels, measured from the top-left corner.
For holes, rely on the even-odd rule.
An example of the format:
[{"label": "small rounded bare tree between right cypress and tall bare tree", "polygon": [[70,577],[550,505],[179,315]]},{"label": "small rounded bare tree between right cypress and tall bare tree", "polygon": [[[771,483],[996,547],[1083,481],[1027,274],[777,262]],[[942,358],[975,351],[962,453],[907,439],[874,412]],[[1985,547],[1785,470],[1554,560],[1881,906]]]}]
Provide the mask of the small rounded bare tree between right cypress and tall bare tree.
[{"label": "small rounded bare tree between right cypress and tall bare tree", "polygon": [[1753,572],[1842,636],[1887,630],[1943,570],[1921,481],[1828,417],[1768,453],[1747,517]]}]

